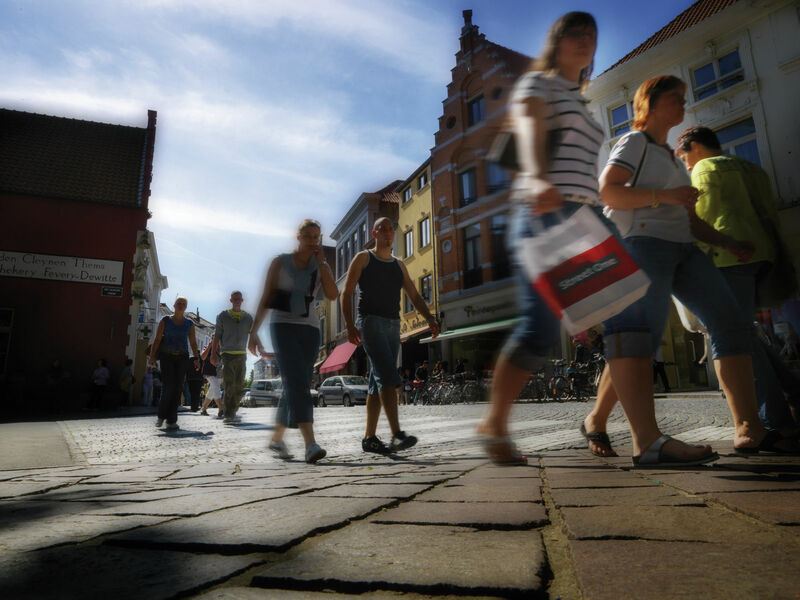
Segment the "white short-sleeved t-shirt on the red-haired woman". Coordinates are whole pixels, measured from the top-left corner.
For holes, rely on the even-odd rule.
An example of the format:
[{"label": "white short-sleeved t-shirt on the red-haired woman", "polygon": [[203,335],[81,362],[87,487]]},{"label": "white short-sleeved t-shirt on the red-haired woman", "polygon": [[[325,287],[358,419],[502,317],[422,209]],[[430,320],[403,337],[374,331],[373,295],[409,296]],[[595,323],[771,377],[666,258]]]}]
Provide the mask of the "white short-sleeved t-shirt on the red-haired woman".
[{"label": "white short-sleeved t-shirt on the red-haired woman", "polygon": [[[656,143],[643,131],[626,133],[614,146],[608,164],[630,171],[626,185],[668,190],[692,185],[689,173],[669,146]],[[670,242],[694,242],[689,215],[682,206],[661,204],[632,210],[604,210],[623,237],[646,236]]]}]

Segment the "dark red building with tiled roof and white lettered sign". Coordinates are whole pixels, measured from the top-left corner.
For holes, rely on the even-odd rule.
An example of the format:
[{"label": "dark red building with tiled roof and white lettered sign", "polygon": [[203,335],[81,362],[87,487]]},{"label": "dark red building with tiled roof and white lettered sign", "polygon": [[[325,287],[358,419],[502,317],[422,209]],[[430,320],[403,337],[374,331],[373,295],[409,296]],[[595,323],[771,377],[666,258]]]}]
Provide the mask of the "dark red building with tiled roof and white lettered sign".
[{"label": "dark red building with tiled roof and white lettered sign", "polygon": [[115,387],[135,336],[133,258],[149,218],[155,129],[154,111],[137,128],[0,109],[5,406],[55,391],[51,407],[77,408],[100,358]]}]

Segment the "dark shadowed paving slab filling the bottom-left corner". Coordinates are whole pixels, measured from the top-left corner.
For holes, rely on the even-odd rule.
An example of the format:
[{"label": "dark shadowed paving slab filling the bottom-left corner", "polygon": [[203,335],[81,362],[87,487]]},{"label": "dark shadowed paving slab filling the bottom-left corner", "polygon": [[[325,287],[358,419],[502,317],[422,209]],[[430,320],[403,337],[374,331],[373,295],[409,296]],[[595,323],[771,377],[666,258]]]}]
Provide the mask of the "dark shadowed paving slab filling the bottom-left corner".
[{"label": "dark shadowed paving slab filling the bottom-left corner", "polygon": [[161,600],[200,591],[261,560],[107,546],[0,555],[0,598]]}]

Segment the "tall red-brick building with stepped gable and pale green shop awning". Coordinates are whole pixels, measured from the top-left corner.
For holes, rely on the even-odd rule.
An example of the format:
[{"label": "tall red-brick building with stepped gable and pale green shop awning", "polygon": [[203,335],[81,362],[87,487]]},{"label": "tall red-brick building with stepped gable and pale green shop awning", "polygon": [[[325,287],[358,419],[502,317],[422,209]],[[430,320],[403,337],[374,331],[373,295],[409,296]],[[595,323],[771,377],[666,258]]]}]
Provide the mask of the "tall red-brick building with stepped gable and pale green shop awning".
[{"label": "tall red-brick building with stepped gable and pale green shop awning", "polygon": [[505,248],[510,176],[486,153],[531,57],[490,42],[465,10],[460,49],[431,149],[439,311],[437,358],[471,368],[494,359],[517,315]]}]

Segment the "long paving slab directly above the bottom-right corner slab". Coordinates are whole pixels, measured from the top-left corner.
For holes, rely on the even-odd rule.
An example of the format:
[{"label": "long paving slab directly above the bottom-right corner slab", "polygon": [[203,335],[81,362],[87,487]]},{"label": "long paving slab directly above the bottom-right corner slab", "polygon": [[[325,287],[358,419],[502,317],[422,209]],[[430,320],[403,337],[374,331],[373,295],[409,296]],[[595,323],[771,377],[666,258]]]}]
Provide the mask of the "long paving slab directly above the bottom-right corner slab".
[{"label": "long paving slab directly above the bottom-right corner slab", "polygon": [[733,513],[697,506],[564,508],[571,539],[648,539],[769,545],[775,531]]}]

